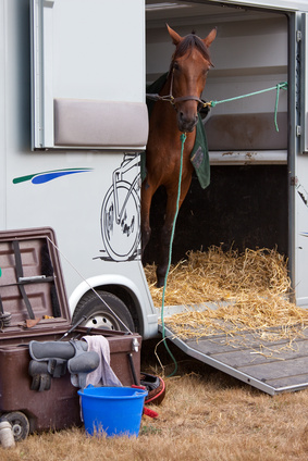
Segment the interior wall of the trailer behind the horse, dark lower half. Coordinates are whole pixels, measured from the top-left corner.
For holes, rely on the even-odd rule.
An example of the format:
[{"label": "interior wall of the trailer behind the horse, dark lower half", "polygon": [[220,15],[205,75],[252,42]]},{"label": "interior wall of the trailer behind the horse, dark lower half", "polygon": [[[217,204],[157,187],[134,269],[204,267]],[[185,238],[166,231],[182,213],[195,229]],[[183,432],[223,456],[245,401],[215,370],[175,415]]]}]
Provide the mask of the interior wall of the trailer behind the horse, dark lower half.
[{"label": "interior wall of the trailer behind the horse, dark lower half", "polygon": [[[159,8],[148,0],[147,83],[167,72],[174,46],[165,23],[184,36],[201,38],[212,27],[210,70],[204,99],[221,101],[274,87],[288,76],[288,21],[264,10],[177,1]],[[156,7],[156,8],[155,8]],[[211,162],[211,184],[202,190],[196,177],[181,209],[173,259],[211,245],[244,248],[278,246],[287,254],[288,170],[287,91],[280,91],[279,132],[274,125],[275,90],[221,103],[205,121]],[[152,227],[162,219],[163,191],[158,191]],[[157,233],[153,230],[152,235]],[[153,237],[147,261],[155,260]]]}]

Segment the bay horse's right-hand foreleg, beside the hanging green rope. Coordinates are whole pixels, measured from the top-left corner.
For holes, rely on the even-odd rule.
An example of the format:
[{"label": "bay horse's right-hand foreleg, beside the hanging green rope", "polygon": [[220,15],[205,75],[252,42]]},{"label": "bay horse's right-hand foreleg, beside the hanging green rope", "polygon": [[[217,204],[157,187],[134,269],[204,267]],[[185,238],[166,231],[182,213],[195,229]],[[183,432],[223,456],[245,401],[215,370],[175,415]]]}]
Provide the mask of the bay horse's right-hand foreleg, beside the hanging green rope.
[{"label": "bay horse's right-hand foreleg, beside the hanging green rope", "polygon": [[[192,182],[192,177],[187,177],[186,180],[182,179],[181,185],[181,197],[178,201],[178,210],[187,195]],[[159,262],[157,266],[157,287],[162,287],[165,282],[165,274],[169,265],[170,257],[170,240],[172,235],[172,227],[174,223],[174,217],[176,213],[176,202],[177,202],[177,189],[169,190],[167,189],[167,210],[164,224],[161,229],[160,235],[160,254]]]}]

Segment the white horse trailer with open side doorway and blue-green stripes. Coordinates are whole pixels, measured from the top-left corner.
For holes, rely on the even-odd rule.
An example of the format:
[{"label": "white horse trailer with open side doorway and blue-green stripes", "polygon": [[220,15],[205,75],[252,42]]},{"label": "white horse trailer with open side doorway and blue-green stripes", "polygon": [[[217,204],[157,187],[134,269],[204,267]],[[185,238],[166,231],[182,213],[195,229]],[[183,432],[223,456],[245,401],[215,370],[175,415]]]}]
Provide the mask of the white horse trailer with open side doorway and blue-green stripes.
[{"label": "white horse trailer with open side doorway and blue-green stripes", "polygon": [[218,29],[202,95],[211,184],[193,177],[173,259],[276,247],[308,307],[307,17],[304,0],[0,0],[0,229],[54,229],[73,320],[159,333],[139,212],[146,86],[174,49],[165,23]]}]

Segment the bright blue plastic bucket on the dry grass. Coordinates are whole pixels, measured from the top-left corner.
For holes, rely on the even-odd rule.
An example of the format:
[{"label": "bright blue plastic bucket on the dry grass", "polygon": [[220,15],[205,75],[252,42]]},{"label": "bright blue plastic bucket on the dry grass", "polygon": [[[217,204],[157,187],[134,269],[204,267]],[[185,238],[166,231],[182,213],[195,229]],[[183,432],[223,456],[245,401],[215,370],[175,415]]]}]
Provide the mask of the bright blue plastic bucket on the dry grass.
[{"label": "bright blue plastic bucket on the dry grass", "polygon": [[101,433],[138,436],[147,390],[133,387],[86,387],[78,390],[85,429],[89,435]]}]

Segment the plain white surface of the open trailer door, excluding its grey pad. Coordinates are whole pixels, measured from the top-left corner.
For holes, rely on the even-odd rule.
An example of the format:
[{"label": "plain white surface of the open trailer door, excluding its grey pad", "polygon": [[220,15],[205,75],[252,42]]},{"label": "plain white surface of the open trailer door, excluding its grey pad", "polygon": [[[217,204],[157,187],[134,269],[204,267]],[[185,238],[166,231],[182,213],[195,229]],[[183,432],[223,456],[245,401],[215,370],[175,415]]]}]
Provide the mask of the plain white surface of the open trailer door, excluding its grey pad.
[{"label": "plain white surface of the open trailer door, excluding its grey pad", "polygon": [[53,148],[53,100],[145,102],[144,0],[32,0],[34,148]]}]

